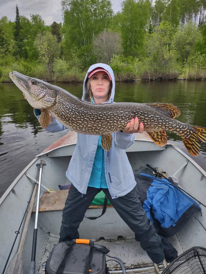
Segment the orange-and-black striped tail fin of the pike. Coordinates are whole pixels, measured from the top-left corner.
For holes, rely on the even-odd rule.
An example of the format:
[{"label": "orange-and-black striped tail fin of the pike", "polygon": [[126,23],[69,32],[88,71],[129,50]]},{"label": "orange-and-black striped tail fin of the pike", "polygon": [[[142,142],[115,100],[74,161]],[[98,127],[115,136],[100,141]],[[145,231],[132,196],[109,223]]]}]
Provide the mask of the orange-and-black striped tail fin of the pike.
[{"label": "orange-and-black striped tail fin of the pike", "polygon": [[200,146],[206,142],[206,128],[189,125],[185,132],[178,132],[182,138],[185,148],[192,156],[198,156]]}]

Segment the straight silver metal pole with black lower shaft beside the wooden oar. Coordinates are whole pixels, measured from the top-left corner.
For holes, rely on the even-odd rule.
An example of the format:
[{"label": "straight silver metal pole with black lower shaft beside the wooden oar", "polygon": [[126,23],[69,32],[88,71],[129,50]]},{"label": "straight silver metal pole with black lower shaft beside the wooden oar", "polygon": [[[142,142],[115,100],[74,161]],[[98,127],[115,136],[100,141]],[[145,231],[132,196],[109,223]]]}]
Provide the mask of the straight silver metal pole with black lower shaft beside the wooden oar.
[{"label": "straight silver metal pole with black lower shaft beside the wooden oar", "polygon": [[40,189],[41,189],[41,173],[43,166],[46,166],[46,163],[44,160],[41,160],[40,164],[37,164],[37,166],[40,165],[40,171],[39,171],[39,184],[38,184],[38,191],[37,191],[37,198],[36,198],[36,214],[35,214],[35,223],[34,223],[34,234],[33,234],[33,243],[32,243],[32,253],[31,253],[31,264],[30,264],[30,270],[29,274],[35,274],[35,268],[36,268],[36,239],[37,239],[37,222],[38,222],[38,213],[39,213],[39,199],[40,199]]}]

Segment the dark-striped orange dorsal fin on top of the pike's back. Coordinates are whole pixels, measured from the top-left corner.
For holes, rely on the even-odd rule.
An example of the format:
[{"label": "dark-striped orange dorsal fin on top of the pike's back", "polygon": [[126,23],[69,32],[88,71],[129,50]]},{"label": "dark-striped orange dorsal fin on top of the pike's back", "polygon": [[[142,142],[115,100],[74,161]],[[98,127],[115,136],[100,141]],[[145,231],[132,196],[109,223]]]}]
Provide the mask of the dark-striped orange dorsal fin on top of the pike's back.
[{"label": "dark-striped orange dorsal fin on top of the pike's back", "polygon": [[182,114],[182,110],[170,103],[146,103],[145,105],[158,108],[163,114],[174,119]]}]

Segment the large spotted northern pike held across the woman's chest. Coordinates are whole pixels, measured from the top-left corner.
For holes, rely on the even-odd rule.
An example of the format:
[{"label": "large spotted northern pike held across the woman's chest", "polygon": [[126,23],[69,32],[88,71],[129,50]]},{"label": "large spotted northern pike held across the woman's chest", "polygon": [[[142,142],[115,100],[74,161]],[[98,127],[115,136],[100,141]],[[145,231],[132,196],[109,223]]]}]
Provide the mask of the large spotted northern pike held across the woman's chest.
[{"label": "large spotted northern pike held across the woman's chest", "polygon": [[170,103],[103,103],[85,102],[68,91],[42,80],[14,71],[9,73],[14,84],[26,95],[29,104],[42,109],[39,122],[45,129],[52,117],[69,129],[92,135],[102,135],[101,146],[109,151],[112,132],[126,127],[132,118],[138,117],[144,131],[158,146],[167,144],[166,130],[178,134],[192,156],[200,152],[206,142],[206,128],[182,123],[175,118],[182,111]]}]

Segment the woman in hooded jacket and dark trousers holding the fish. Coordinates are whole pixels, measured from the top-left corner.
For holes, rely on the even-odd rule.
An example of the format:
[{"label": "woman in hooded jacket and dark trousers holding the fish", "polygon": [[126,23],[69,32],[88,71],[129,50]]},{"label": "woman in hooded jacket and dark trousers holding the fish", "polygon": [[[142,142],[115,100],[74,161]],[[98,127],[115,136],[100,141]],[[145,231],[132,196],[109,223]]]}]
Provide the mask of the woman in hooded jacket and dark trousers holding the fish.
[{"label": "woman in hooded jacket and dark trousers holding the fish", "polygon": [[[114,73],[109,65],[92,65],[85,76],[82,100],[112,103]],[[40,110],[34,109],[39,119]],[[49,132],[66,127],[55,118],[46,128]],[[156,273],[167,266],[162,239],[142,209],[135,193],[135,179],[125,149],[134,143],[134,132],[142,133],[144,125],[134,117],[121,132],[112,133],[109,152],[101,147],[101,136],[78,133],[77,145],[66,176],[72,185],[62,213],[59,242],[79,238],[79,224],[94,196],[101,190],[111,201],[120,217],[134,231],[135,238],[155,264]]]}]

